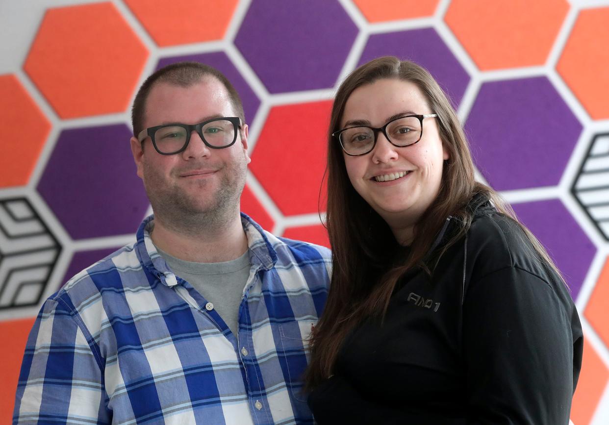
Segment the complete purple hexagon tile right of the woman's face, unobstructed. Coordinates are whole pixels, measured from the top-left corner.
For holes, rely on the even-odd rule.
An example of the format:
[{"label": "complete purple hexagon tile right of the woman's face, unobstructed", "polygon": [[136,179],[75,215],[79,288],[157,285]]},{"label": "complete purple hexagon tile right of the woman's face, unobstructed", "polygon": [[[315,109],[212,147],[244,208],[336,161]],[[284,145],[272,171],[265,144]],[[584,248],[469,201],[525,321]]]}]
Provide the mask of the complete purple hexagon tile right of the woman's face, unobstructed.
[{"label": "complete purple hexagon tile right of the woman's face, unobstructed", "polygon": [[465,127],[476,166],[498,190],[558,184],[582,132],[546,77],[484,83]]}]

